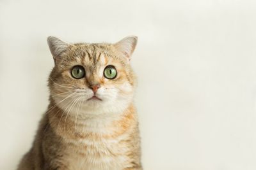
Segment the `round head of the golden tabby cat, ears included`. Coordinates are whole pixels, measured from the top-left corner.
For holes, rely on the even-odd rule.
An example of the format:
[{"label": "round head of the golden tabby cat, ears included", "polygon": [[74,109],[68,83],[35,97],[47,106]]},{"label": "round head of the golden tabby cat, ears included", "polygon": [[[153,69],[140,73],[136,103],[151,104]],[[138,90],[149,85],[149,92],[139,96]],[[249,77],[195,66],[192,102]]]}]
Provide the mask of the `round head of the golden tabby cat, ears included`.
[{"label": "round head of the golden tabby cat, ears included", "polygon": [[132,101],[136,78],[129,60],[135,36],[117,43],[70,44],[50,36],[54,59],[51,100],[70,114],[118,113]]}]

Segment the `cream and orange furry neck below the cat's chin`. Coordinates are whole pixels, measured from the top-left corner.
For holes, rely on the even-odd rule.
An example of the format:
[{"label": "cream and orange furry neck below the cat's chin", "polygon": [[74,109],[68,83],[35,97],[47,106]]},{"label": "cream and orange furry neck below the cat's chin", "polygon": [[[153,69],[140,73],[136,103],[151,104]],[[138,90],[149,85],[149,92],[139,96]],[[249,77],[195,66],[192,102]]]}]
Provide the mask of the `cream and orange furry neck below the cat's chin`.
[{"label": "cream and orange furry neck below the cat's chin", "polygon": [[[54,103],[49,105],[49,108]],[[136,111],[132,103],[119,113],[105,112],[93,115],[90,111],[81,111],[78,114],[67,113],[56,106],[48,113],[49,124],[60,136],[86,136],[90,133],[99,136],[113,135],[125,131],[131,122],[137,120]],[[120,130],[121,129],[121,130]]]}]

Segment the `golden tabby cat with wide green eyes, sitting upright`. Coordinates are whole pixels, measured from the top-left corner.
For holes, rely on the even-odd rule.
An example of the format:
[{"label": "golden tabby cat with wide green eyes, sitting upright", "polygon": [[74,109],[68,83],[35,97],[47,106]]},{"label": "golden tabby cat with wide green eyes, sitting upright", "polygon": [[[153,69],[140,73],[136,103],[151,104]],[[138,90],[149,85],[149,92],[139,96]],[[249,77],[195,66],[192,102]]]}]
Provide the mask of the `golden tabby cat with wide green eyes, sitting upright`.
[{"label": "golden tabby cat with wide green eyes, sitting upright", "polygon": [[18,170],[142,169],[130,64],[137,37],[71,44],[50,36],[47,43],[49,106]]}]

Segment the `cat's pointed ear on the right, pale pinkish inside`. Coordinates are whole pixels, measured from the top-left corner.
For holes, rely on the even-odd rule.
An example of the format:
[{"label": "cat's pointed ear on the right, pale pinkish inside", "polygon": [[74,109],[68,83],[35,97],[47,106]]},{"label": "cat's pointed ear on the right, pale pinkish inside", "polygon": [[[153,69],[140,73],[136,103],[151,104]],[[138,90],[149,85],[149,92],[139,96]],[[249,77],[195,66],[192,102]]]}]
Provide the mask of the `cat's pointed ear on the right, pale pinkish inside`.
[{"label": "cat's pointed ear on the right, pale pinkish inside", "polygon": [[114,46],[118,52],[123,53],[128,60],[131,60],[131,55],[136,47],[137,39],[136,36],[127,36],[115,43]]}]

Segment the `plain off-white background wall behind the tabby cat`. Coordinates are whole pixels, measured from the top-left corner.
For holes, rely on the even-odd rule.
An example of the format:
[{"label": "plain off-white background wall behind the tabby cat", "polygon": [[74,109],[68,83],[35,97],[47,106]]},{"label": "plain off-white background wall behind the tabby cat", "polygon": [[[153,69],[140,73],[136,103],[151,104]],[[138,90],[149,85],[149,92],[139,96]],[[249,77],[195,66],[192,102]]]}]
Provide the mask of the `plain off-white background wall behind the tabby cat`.
[{"label": "plain off-white background wall behind the tabby cat", "polygon": [[0,169],[15,169],[47,108],[47,36],[136,35],[146,170],[256,169],[256,1],[0,0]]}]

